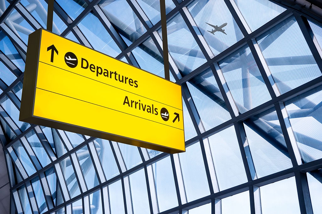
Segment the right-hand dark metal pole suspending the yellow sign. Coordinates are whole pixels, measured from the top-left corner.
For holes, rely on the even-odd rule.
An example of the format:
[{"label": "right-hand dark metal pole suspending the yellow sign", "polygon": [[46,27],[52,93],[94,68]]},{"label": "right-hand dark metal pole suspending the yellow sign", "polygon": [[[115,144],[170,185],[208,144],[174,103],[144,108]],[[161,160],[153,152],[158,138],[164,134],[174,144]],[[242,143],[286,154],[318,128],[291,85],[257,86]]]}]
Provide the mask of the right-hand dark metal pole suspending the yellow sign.
[{"label": "right-hand dark metal pole suspending the yellow sign", "polygon": [[166,32],[166,0],[160,0],[160,13],[161,13],[162,44],[163,44],[164,78],[166,80],[170,80],[168,37],[167,37],[168,35]]}]

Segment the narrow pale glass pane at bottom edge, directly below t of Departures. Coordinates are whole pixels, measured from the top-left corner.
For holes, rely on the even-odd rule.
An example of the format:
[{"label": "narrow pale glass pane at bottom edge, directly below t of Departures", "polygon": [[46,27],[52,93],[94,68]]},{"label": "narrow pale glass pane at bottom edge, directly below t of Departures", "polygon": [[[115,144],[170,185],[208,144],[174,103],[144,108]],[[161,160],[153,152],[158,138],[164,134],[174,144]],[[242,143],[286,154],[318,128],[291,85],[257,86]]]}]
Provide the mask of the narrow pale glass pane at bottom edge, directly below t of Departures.
[{"label": "narrow pale glass pane at bottom edge, directly below t of Departures", "polygon": [[109,206],[111,214],[125,213],[121,180],[109,185]]}]

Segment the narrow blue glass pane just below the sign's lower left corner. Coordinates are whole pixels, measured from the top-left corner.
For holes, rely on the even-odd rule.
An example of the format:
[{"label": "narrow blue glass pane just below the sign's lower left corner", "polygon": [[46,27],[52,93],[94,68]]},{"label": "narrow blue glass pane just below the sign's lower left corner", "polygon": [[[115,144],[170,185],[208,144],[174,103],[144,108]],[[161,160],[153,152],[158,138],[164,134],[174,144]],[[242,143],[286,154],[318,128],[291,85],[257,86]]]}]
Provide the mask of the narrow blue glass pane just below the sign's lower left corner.
[{"label": "narrow blue glass pane just below the sign's lower left corner", "polygon": [[36,133],[34,131],[29,132],[26,134],[26,138],[33,149],[36,157],[38,158],[39,162],[43,167],[47,166],[51,163],[45,149],[43,148],[43,144],[40,143]]}]

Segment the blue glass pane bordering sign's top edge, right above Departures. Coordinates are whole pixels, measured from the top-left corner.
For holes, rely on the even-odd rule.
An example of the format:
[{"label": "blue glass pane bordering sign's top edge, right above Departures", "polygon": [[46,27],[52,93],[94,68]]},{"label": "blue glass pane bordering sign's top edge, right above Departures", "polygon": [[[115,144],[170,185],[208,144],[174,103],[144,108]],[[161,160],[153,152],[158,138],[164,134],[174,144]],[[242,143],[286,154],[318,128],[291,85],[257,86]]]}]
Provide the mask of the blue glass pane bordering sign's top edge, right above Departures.
[{"label": "blue glass pane bordering sign's top edge, right above Departures", "polygon": [[86,15],[77,26],[95,50],[112,57],[121,53],[119,47],[92,12]]}]

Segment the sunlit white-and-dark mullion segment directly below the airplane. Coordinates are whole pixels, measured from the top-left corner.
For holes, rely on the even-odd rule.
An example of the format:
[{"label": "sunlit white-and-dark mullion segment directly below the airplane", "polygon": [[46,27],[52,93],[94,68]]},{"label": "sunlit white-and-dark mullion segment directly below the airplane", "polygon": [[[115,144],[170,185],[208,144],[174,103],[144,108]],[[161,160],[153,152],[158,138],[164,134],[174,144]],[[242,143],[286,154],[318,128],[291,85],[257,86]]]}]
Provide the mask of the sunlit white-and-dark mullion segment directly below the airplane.
[{"label": "sunlit white-and-dark mullion segment directly below the airplane", "polygon": [[230,116],[232,118],[238,116],[239,115],[238,108],[228,88],[227,82],[223,76],[223,72],[221,71],[219,64],[218,63],[212,64],[210,65],[210,68],[213,71],[213,76],[215,77],[215,80],[218,84],[218,88],[223,96],[223,100],[225,101],[225,104],[227,106],[228,112],[230,113]]}]

